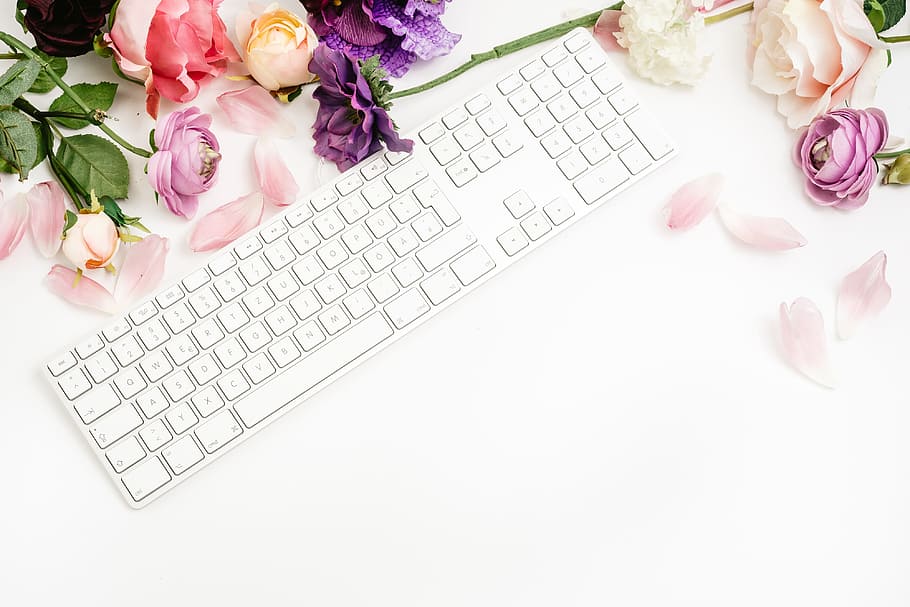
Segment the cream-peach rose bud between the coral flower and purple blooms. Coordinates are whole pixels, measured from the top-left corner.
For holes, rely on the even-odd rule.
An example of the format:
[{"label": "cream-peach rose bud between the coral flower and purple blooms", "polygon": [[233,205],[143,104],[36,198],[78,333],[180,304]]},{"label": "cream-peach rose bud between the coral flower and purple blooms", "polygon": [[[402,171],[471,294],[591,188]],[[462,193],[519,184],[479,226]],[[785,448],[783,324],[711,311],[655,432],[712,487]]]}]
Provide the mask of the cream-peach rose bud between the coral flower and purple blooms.
[{"label": "cream-peach rose bud between the coral flower and purple blooms", "polygon": [[250,75],[262,88],[277,91],[312,80],[307,68],[319,38],[303,19],[278,4],[258,15],[241,13],[237,39]]}]

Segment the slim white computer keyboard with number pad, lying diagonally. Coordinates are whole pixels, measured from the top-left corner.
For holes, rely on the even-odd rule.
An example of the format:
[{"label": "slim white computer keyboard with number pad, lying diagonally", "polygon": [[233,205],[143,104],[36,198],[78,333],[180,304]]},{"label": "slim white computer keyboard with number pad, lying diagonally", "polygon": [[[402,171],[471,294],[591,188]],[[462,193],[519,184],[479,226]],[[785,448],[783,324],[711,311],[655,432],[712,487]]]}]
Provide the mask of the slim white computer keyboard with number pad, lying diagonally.
[{"label": "slim white computer keyboard with number pad, lying diagonally", "polygon": [[145,506],[673,155],[585,30],[221,251],[45,374]]}]

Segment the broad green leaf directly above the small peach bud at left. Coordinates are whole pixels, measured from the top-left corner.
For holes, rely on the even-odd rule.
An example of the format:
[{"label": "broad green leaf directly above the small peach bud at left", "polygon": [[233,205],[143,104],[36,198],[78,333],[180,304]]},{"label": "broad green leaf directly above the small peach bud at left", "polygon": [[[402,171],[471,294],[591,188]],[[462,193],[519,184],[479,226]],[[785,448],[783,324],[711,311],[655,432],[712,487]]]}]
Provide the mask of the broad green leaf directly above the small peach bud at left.
[{"label": "broad green leaf directly above the small peach bud at left", "polygon": [[57,159],[87,192],[111,198],[126,198],[130,169],[120,149],[97,135],[63,137]]}]

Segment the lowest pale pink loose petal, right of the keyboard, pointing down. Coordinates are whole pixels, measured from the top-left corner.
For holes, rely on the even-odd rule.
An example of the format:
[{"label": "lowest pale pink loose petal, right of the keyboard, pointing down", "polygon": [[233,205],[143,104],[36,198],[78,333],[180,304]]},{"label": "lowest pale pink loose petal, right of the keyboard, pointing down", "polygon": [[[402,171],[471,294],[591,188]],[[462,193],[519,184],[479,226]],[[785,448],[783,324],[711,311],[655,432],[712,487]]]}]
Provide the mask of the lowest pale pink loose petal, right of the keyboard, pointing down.
[{"label": "lowest pale pink loose petal, right of the keyboard, pointing down", "polygon": [[789,308],[781,303],[780,334],[787,361],[809,379],[833,388],[825,319],[818,307],[805,297],[794,301]]}]

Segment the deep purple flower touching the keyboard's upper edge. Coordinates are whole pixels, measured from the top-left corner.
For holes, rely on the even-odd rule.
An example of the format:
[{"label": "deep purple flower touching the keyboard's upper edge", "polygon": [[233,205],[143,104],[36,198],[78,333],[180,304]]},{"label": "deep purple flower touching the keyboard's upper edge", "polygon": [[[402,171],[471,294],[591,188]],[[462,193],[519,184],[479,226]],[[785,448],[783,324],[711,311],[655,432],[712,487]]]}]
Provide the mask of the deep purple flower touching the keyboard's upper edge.
[{"label": "deep purple flower touching the keyboard's upper edge", "polygon": [[384,97],[391,87],[376,60],[359,62],[320,44],[310,61],[319,76],[313,98],[319,102],[313,123],[316,153],[346,170],[385,143],[393,152],[410,152],[413,141],[401,139]]}]

